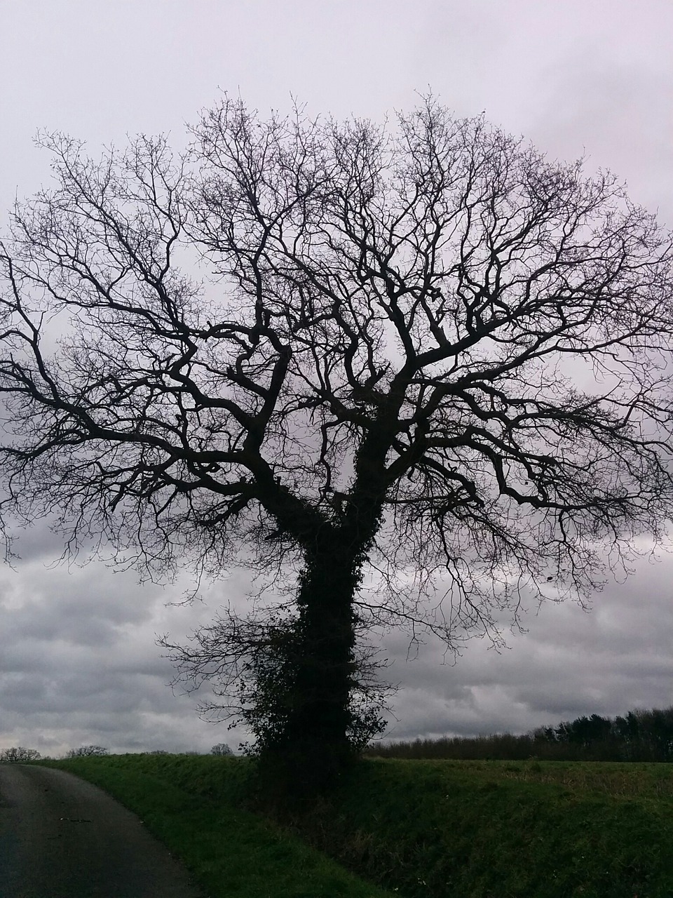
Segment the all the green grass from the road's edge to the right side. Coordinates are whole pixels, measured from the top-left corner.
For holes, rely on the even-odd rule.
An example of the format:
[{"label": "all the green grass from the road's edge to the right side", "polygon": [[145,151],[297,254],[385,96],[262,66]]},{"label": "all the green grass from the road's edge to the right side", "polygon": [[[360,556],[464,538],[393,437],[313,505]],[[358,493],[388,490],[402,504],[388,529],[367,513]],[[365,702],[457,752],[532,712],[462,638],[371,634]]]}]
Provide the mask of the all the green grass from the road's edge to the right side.
[{"label": "all the green grass from the road's edge to the right side", "polygon": [[281,829],[241,810],[245,760],[56,763],[140,814],[212,898],[673,898],[665,764],[366,760]]}]

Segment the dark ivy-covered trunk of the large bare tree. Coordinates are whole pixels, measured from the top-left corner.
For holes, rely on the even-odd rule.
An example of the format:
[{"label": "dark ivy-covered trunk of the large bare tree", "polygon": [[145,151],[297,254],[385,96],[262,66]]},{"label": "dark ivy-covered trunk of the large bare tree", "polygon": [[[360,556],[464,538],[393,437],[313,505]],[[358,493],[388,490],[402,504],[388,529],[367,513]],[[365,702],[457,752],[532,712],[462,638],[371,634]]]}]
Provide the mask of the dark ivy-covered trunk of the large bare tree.
[{"label": "dark ivy-covered trunk of the large bare tree", "polygon": [[[392,414],[387,418],[397,420]],[[360,729],[362,737],[363,727],[358,726],[362,721],[352,703],[362,673],[355,657],[354,598],[380,526],[392,429],[384,419],[363,440],[354,486],[342,498],[338,521],[303,518],[297,526],[303,508],[295,506],[299,515],[293,521],[292,506],[278,503],[269,509],[286,530],[294,529],[304,551],[283,682],[267,683],[275,694],[279,725],[261,752],[273,774],[284,770],[289,776],[288,794],[315,795],[334,784],[360,748],[354,730]]]}]

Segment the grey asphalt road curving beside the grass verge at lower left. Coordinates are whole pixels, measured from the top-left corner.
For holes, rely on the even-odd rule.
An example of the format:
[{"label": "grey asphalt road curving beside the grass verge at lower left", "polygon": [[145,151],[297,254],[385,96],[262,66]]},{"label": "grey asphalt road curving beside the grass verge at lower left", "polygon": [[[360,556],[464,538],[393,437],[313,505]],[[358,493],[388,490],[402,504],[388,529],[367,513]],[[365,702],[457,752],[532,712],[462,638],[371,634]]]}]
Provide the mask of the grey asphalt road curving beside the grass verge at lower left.
[{"label": "grey asphalt road curving beside the grass verge at lower left", "polygon": [[202,898],[143,823],[64,770],[0,764],[0,898]]}]

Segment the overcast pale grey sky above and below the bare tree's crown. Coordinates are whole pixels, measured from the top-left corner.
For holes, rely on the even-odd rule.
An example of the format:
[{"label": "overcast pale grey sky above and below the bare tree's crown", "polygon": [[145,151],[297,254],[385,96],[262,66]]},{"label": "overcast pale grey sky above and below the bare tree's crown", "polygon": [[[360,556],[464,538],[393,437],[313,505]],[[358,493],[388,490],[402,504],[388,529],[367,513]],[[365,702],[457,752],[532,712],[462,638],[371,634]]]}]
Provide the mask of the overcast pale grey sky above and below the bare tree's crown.
[{"label": "overcast pale grey sky above and below the bare tree's crown", "polygon": [[[139,132],[179,147],[223,91],[261,113],[295,97],[311,114],[380,121],[428,88],[552,158],[611,169],[673,226],[670,0],[0,0],[0,42],[0,231],[15,197],[49,185],[39,129],[83,138],[92,154]],[[187,571],[140,585],[100,561],[58,563],[62,546],[41,523],[18,550],[0,568],[0,749],[208,751],[245,739],[171,691],[155,642],[244,603],[242,574],[176,606]],[[673,704],[673,555],[645,551],[591,606],[531,608],[502,652],[474,639],[455,664],[432,642],[408,653],[390,634],[387,737],[526,732]]]}]

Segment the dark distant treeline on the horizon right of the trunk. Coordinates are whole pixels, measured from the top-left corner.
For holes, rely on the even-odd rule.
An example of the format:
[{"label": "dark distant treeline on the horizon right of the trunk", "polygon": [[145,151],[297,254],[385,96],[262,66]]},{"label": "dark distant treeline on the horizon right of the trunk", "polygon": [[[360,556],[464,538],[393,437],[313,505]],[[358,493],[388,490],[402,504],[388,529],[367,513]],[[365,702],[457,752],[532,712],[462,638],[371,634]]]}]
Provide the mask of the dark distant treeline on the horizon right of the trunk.
[{"label": "dark distant treeline on the horizon right of the trunk", "polygon": [[592,714],[558,726],[540,726],[525,735],[445,736],[371,744],[366,753],[457,761],[673,761],[673,707],[634,710],[616,718]]}]

